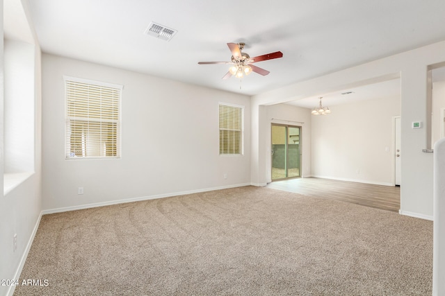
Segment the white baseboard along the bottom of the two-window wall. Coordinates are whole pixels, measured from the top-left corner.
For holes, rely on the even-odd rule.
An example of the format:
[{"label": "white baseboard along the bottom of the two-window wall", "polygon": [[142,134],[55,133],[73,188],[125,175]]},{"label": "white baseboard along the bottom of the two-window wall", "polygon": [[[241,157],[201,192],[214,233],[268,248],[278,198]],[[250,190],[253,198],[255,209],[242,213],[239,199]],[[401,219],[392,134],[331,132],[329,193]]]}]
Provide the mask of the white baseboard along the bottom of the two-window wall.
[{"label": "white baseboard along the bottom of the two-window wall", "polygon": [[207,191],[215,191],[215,190],[236,188],[236,187],[249,186],[249,185],[251,185],[251,184],[250,183],[235,184],[235,185],[219,186],[219,187],[213,187],[213,188],[207,188],[207,189],[197,189],[197,190],[191,190],[191,191],[180,191],[180,192],[165,193],[165,194],[159,194],[159,195],[142,196],[139,198],[127,198],[124,200],[111,200],[108,202],[95,202],[95,203],[91,203],[91,204],[81,204],[79,206],[73,206],[73,207],[46,209],[46,210],[42,211],[42,215],[61,213],[63,211],[76,211],[78,209],[90,209],[90,208],[94,208],[94,207],[105,207],[105,206],[109,206],[109,205],[113,205],[113,204],[124,204],[127,202],[140,202],[143,200],[156,200],[158,198],[171,198],[172,196],[186,195],[186,194],[193,194],[193,193],[200,193],[200,192],[207,192]]}]

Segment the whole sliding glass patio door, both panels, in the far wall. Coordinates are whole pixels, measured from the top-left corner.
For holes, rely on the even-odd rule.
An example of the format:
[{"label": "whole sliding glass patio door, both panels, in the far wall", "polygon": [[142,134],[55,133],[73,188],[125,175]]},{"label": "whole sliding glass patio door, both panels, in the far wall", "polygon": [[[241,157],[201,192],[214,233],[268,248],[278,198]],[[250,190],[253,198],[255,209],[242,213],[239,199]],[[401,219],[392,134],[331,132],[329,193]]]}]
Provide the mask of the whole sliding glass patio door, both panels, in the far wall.
[{"label": "whole sliding glass patio door, both panels, in the far wall", "polygon": [[301,177],[301,127],[272,124],[272,181]]}]

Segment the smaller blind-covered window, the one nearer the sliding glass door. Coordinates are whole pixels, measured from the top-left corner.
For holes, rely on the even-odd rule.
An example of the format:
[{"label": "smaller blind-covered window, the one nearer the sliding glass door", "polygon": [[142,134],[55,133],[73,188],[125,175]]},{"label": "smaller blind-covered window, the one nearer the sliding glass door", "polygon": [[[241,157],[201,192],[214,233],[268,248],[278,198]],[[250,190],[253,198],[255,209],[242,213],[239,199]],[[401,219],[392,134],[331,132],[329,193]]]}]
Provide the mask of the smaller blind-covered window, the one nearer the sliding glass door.
[{"label": "smaller blind-covered window, the one nearer the sliding glass door", "polygon": [[243,154],[244,107],[220,103],[220,155]]}]

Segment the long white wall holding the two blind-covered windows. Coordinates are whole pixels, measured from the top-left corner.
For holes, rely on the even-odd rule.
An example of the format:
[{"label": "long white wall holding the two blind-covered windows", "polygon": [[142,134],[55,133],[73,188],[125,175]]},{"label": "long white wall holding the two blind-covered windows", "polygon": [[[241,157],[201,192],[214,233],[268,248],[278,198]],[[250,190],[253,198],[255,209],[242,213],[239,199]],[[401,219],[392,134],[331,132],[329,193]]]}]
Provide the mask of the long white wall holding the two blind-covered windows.
[{"label": "long white wall holding the two blind-covered windows", "polygon": [[[44,210],[250,184],[248,96],[49,54],[42,75]],[[65,160],[64,75],[124,86],[121,159]],[[243,156],[219,155],[218,102],[245,106]]]}]

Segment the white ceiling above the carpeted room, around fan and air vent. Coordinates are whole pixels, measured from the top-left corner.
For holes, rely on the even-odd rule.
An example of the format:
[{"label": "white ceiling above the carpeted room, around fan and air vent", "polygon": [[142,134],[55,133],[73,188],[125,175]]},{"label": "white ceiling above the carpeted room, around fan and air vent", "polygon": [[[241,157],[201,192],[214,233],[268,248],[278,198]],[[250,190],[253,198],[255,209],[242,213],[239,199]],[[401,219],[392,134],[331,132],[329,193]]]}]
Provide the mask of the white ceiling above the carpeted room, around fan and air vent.
[{"label": "white ceiling above the carpeted room, around fan and air vent", "polygon": [[[28,1],[46,53],[247,95],[445,40],[444,0]],[[151,21],[178,32],[169,42],[144,35]],[[227,42],[284,56],[256,64],[268,76],[222,80],[226,64],[197,62],[229,61]],[[397,84],[381,83],[384,93]]]}]

